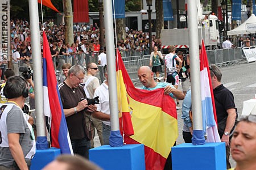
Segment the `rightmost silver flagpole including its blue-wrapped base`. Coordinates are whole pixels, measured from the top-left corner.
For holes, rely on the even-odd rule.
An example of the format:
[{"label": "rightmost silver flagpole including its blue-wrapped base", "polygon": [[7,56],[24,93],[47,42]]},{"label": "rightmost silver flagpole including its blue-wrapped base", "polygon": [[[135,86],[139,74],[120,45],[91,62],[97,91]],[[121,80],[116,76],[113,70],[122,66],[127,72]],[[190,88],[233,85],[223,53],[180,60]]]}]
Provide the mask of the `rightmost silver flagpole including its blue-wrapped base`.
[{"label": "rightmost silver flagpole including its blue-wrapped base", "polygon": [[[199,33],[197,26],[197,0],[188,1],[189,56],[191,59],[191,101],[193,113],[193,145],[204,144],[203,116],[201,107]],[[203,137],[202,137],[203,134]],[[195,140],[193,140],[195,139]]]}]

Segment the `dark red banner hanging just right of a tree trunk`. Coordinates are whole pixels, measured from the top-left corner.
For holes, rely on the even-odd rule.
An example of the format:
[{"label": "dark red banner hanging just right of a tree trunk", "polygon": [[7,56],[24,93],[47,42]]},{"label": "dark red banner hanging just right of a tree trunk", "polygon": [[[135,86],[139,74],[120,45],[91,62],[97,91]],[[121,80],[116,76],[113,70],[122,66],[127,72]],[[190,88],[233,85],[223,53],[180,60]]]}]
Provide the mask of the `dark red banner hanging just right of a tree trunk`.
[{"label": "dark red banner hanging just right of a tree trunk", "polygon": [[73,23],[89,23],[88,0],[74,0],[73,8],[74,8]]}]

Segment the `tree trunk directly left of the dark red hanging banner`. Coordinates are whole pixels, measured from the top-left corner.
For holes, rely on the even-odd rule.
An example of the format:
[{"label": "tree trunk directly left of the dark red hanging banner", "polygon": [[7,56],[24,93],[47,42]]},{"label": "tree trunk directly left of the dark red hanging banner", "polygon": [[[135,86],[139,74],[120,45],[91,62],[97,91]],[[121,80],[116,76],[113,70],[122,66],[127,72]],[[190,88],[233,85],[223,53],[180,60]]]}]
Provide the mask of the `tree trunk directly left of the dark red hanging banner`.
[{"label": "tree trunk directly left of the dark red hanging banner", "polygon": [[65,22],[65,43],[70,45],[74,42],[73,37],[73,11],[71,0],[63,0],[64,22]]}]

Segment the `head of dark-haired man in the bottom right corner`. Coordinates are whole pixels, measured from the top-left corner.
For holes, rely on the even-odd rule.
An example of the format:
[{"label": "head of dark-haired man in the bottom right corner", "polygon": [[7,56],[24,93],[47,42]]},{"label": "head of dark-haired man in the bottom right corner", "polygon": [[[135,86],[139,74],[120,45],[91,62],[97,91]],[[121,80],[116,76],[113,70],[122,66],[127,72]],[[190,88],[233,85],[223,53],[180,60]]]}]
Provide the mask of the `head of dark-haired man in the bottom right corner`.
[{"label": "head of dark-haired man in the bottom right corner", "polygon": [[241,117],[231,141],[232,158],[236,168],[230,170],[256,169],[256,115]]}]

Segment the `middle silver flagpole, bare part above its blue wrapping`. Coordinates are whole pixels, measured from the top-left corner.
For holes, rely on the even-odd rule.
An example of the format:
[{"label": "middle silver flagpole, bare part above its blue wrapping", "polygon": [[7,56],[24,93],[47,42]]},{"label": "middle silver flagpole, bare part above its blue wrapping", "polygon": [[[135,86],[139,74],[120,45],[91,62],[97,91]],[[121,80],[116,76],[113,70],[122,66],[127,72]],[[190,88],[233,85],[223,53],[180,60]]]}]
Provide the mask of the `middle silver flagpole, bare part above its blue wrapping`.
[{"label": "middle silver flagpole, bare part above its blue wrapping", "polygon": [[104,0],[104,24],[106,39],[106,54],[108,62],[108,82],[109,82],[109,106],[111,130],[119,130],[118,100],[117,100],[117,80],[115,77],[115,45],[112,0]]}]

